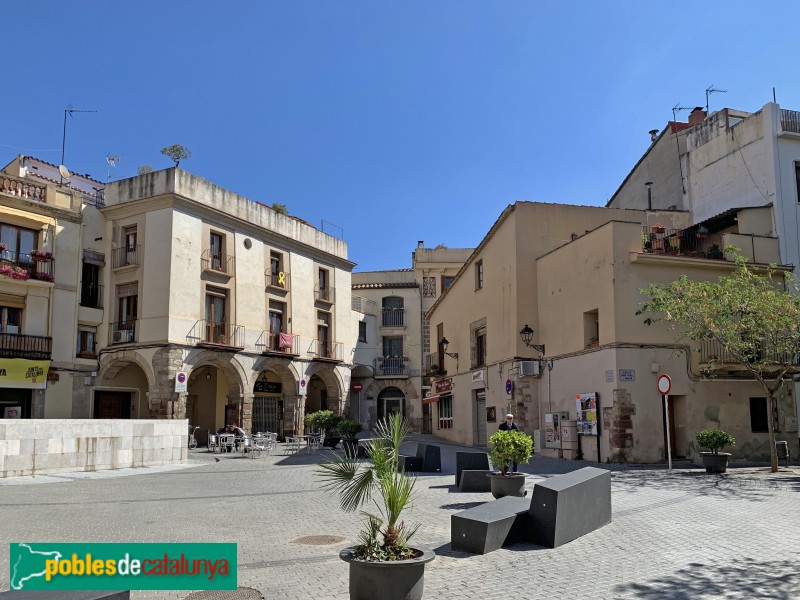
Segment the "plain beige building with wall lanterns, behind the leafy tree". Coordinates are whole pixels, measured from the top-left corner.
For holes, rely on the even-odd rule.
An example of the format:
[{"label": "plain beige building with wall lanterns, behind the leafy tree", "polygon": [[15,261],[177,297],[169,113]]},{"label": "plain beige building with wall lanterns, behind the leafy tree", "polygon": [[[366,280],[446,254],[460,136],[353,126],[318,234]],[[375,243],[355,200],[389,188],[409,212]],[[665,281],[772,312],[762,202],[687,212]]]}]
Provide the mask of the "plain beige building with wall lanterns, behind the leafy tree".
[{"label": "plain beige building with wall lanterns, behind the leafy tree", "polygon": [[[755,262],[777,261],[778,239],[747,229],[751,223],[760,232],[764,215],[739,214],[724,239],[701,242],[746,240]],[[442,332],[437,341],[448,342],[440,346],[447,372],[433,384],[436,435],[485,446],[511,412],[523,430],[537,432],[537,452],[575,457],[579,439],[587,459],[648,463],[666,459],[669,422],[675,457],[697,458],[693,433],[721,427],[739,442],[735,458],[767,458],[763,423],[753,420],[759,386],[730,366],[709,379],[714,348],[677,345],[674,333],[635,315],[648,283],[732,269],[722,256],[678,248],[674,240],[684,238],[672,232],[688,226],[680,211],[508,207],[428,313]],[[526,326],[533,330],[527,344]],[[673,381],[668,411],[656,391],[660,374]],[[592,417],[599,435],[591,435]],[[796,452],[791,393],[780,401],[780,419]]]}]

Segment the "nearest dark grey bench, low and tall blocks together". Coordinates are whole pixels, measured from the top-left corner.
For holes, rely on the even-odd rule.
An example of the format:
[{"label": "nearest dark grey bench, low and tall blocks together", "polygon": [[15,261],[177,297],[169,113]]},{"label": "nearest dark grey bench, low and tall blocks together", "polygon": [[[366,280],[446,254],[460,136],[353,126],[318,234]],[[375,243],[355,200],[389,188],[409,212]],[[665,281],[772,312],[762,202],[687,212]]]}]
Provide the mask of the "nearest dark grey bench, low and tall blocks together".
[{"label": "nearest dark grey bench, low and tall blocks together", "polygon": [[[463,475],[462,475],[463,476]],[[485,554],[517,542],[556,548],[611,522],[611,472],[585,467],[450,517],[453,550]]]}]

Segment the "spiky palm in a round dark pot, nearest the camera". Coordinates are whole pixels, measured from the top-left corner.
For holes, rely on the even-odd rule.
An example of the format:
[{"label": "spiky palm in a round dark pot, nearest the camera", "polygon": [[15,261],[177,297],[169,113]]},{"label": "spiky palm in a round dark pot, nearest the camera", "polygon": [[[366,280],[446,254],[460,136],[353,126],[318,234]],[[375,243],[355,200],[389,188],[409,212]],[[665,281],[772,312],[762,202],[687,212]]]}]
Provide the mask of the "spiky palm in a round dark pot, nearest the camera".
[{"label": "spiky palm in a round dark pot, nearest the camera", "polygon": [[419,525],[401,520],[411,505],[416,478],[397,465],[400,445],[408,435],[400,414],[390,415],[375,427],[367,443],[369,461],[345,453],[338,461],[320,465],[324,486],[339,497],[342,510],[352,512],[372,500],[378,514],[362,511],[366,522],[359,544],[345,548],[339,558],[350,565],[351,600],[418,600],[422,598],[425,565],[432,550],[408,545]]}]

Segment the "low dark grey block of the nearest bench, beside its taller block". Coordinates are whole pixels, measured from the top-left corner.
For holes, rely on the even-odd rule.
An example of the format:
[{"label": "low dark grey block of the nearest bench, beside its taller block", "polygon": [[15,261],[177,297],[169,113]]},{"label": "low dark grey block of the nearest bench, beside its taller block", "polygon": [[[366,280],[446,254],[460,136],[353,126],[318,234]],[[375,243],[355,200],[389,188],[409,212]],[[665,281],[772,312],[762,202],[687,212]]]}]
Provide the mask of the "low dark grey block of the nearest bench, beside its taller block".
[{"label": "low dark grey block of the nearest bench, beside its taller block", "polygon": [[524,541],[529,509],[527,498],[506,496],[451,515],[450,546],[486,554]]}]

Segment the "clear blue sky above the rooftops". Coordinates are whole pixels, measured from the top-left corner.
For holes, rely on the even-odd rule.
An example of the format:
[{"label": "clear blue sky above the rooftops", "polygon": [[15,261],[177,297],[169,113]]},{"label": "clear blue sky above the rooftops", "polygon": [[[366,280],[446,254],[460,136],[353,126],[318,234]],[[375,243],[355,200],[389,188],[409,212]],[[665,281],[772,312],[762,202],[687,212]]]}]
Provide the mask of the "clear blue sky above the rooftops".
[{"label": "clear blue sky above the rooftops", "polygon": [[[800,109],[800,3],[4,2],[0,151],[186,170],[319,226],[357,270],[476,245],[516,200],[604,204],[676,103]],[[688,113],[683,113],[685,120]],[[326,225],[326,230],[338,234]]]}]

